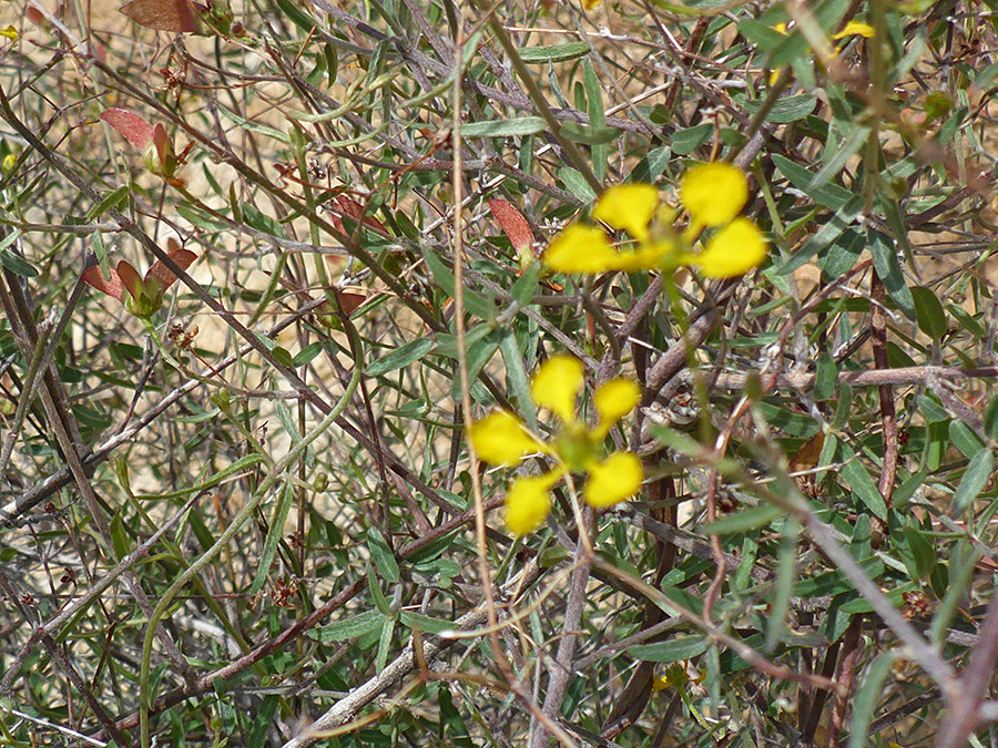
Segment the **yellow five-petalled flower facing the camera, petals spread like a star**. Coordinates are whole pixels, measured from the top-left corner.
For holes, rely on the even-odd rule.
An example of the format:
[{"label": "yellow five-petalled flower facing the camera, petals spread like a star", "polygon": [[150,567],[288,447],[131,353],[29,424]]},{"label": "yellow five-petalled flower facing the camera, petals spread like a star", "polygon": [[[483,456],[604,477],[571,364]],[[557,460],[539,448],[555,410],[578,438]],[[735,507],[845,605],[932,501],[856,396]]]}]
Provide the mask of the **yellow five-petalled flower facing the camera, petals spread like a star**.
[{"label": "yellow five-petalled flower facing the camera, petals spread like a star", "polygon": [[512,465],[529,454],[546,454],[556,467],[542,475],[518,478],[506,499],[506,526],[517,535],[537,530],[551,511],[551,489],[567,473],[588,473],[582,498],[590,506],[604,508],[630,499],[641,488],[641,461],[631,452],[601,457],[610,429],[638,404],[641,392],[628,379],[612,379],[593,396],[598,413],[589,428],[576,416],[576,398],[582,389],[582,363],[571,356],[554,356],[540,366],[530,382],[530,396],[562,423],[551,441],[528,431],[523,421],[496,411],[471,426],[470,439],[479,459],[493,465]]}]

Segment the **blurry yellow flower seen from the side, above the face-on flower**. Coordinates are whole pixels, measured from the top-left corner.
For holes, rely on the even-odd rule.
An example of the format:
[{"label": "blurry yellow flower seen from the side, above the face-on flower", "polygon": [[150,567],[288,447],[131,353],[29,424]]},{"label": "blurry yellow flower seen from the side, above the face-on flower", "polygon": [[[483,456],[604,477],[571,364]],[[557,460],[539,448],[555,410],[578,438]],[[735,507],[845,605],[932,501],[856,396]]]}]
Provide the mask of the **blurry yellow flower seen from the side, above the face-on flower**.
[{"label": "blurry yellow flower seen from the side, above the face-on flower", "polygon": [[[758,226],[739,216],[747,202],[748,181],[742,170],[726,163],[697,164],[680,185],[680,204],[690,223],[678,234],[672,225],[675,212],[660,203],[655,187],[610,187],[592,217],[627,232],[633,242],[618,249],[602,228],[576,223],[554,237],[543,262],[559,273],[632,273],[692,265],[707,278],[734,278],[766,258],[767,244]],[[704,229],[713,232],[702,242],[703,248],[694,252]]]}]

